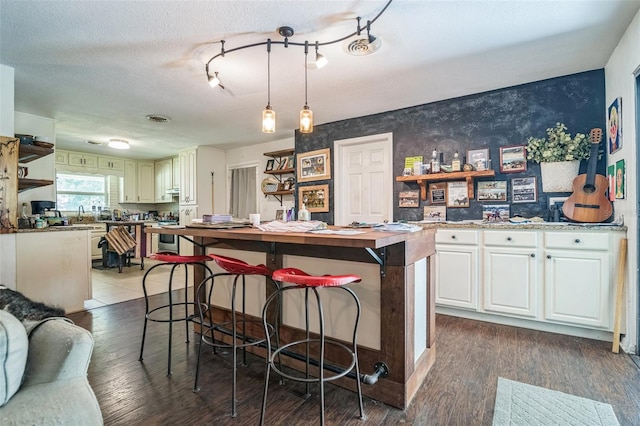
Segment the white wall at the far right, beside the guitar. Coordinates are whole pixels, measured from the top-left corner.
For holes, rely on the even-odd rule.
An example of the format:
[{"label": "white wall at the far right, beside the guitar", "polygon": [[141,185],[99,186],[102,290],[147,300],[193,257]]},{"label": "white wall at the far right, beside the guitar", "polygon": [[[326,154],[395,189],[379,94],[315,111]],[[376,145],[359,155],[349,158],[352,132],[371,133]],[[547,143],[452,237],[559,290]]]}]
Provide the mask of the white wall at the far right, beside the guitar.
[{"label": "white wall at the far right, beside the guitar", "polygon": [[[608,158],[608,164],[624,159],[626,164],[626,199],[615,201],[616,216],[624,215],[628,227],[627,277],[626,277],[626,336],[622,348],[635,353],[637,342],[638,305],[638,176],[636,129],[635,75],[640,69],[640,12],[638,12],[620,39],[618,46],[605,66],[607,106],[622,98],[622,149]],[[606,115],[606,111],[602,112]]]}]

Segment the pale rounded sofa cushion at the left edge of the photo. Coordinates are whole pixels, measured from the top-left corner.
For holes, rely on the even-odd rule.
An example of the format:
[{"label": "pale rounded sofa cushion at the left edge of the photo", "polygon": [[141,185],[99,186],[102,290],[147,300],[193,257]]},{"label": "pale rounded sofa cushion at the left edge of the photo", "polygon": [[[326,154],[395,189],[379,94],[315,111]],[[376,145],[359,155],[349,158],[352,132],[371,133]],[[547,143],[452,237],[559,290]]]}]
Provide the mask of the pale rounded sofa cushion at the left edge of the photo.
[{"label": "pale rounded sofa cushion at the left edge of the photo", "polygon": [[28,348],[29,339],[22,323],[0,310],[0,407],[20,388]]}]

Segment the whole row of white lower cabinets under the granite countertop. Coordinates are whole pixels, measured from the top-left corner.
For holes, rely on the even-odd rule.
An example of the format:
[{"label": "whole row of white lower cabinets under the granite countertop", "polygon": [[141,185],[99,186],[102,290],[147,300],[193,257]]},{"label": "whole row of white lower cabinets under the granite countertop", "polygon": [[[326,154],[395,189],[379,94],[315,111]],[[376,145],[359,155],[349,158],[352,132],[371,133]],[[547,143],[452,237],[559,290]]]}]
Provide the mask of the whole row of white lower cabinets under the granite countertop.
[{"label": "whole row of white lower cabinets under the granite countertop", "polygon": [[529,320],[533,328],[612,331],[615,260],[624,237],[625,231],[601,228],[438,228],[436,304],[454,315],[459,309],[495,322]]}]

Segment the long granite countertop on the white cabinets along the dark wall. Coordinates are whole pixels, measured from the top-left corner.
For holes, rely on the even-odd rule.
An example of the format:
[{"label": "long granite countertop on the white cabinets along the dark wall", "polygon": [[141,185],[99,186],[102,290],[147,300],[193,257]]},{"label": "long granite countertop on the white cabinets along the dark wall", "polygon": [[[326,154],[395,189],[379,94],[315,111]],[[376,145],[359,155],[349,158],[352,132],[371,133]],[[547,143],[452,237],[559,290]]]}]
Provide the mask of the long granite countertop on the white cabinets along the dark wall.
[{"label": "long granite countertop on the white cabinets along the dark wall", "polygon": [[602,223],[570,223],[570,222],[486,222],[482,220],[470,220],[460,222],[410,222],[426,229],[433,228],[458,228],[458,229],[533,229],[533,230],[560,230],[560,231],[626,231],[627,227],[620,224]]}]

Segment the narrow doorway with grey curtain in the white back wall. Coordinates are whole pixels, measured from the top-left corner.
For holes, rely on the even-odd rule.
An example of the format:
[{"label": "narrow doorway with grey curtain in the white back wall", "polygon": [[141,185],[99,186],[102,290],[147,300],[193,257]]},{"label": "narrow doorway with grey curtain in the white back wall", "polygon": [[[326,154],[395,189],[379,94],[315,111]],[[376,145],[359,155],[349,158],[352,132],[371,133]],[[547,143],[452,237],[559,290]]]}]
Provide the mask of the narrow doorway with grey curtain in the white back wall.
[{"label": "narrow doorway with grey curtain in the white back wall", "polygon": [[258,167],[231,167],[229,173],[229,214],[236,219],[248,219],[249,214],[258,212]]}]

